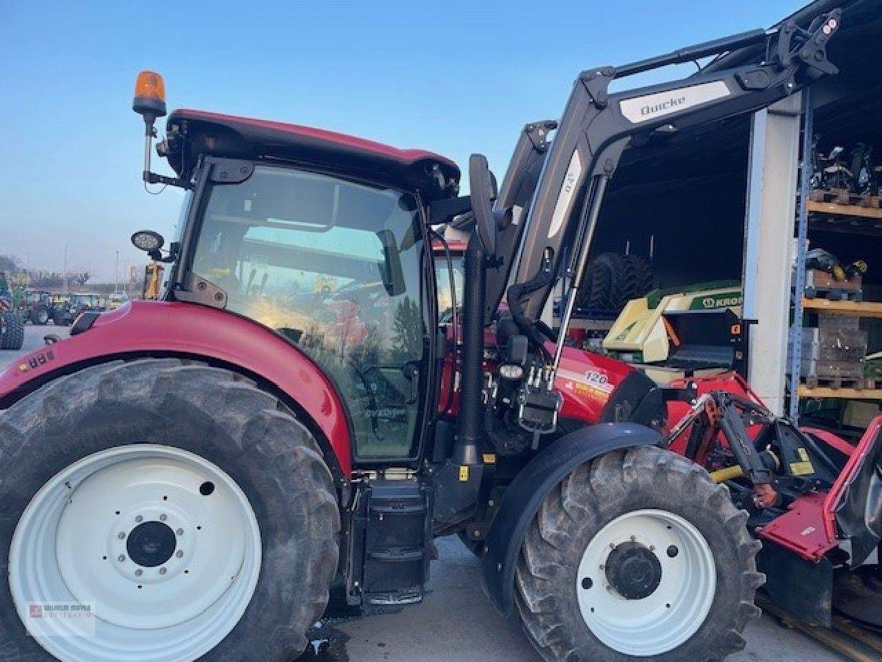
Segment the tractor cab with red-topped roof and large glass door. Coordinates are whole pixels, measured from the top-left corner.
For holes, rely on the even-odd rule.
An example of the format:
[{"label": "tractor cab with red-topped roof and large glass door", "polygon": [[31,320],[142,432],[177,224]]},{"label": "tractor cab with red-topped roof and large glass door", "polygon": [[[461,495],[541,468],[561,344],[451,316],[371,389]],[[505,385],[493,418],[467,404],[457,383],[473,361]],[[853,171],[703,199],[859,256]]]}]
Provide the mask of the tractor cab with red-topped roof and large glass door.
[{"label": "tractor cab with red-topped roof and large glass door", "polygon": [[161,153],[192,193],[167,300],[257,322],[301,350],[348,410],[356,462],[415,462],[436,316],[426,206],[459,169],[293,124],[194,110]]}]

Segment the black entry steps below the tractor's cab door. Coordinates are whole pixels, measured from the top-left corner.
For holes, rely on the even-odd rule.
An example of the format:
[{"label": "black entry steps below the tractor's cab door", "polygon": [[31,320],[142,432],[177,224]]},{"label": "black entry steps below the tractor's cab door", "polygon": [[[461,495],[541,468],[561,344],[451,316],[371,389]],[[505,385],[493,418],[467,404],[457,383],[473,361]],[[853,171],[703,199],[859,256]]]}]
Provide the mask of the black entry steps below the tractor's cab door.
[{"label": "black entry steps below the tractor's cab door", "polygon": [[349,535],[348,601],[400,606],[422,601],[429,578],[429,491],[415,478],[360,485]]}]

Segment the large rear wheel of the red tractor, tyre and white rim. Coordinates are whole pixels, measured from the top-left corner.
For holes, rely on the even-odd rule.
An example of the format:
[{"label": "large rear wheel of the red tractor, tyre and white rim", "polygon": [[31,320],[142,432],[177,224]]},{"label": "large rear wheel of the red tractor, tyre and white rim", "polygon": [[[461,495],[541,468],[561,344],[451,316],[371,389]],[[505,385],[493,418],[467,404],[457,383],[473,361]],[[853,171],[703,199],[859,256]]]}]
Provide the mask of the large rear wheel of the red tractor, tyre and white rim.
[{"label": "large rear wheel of the red tractor, tyre and white rim", "polygon": [[[131,476],[131,471],[125,474],[123,462],[93,464],[95,458],[104,462],[107,456],[128,457],[124,454],[131,453],[136,458],[146,456],[149,462],[167,469],[163,476],[171,477],[150,483],[149,497],[134,492],[145,489],[144,483],[126,482],[124,478]],[[277,398],[250,380],[235,372],[176,359],[89,367],[50,382],[0,412],[0,457],[7,460],[0,463],[0,568],[9,568],[9,575],[4,572],[0,578],[0,641],[4,643],[0,657],[50,659],[47,651],[51,651],[58,658],[89,662],[121,659],[133,653],[151,662],[201,656],[262,662],[289,660],[305,648],[304,633],[324,611],[337,569],[340,515],[333,478],[310,432]],[[172,462],[169,457],[176,459]],[[182,470],[175,464],[178,459],[189,464]],[[77,467],[94,469],[82,475],[85,470],[78,474]],[[113,471],[120,472],[119,478],[108,483],[108,475],[115,476]],[[196,478],[184,485],[182,478],[175,477],[191,476],[187,471],[195,471]],[[209,482],[206,476],[217,478]],[[66,477],[71,479],[64,481]],[[118,489],[98,492],[99,498],[92,492],[77,499],[79,490],[85,492],[90,485],[102,485],[101,481],[118,485]],[[168,500],[153,494],[154,485]],[[61,501],[63,505],[56,508],[59,515],[53,519],[51,503],[43,508],[43,495],[64,492],[65,487],[70,496]],[[227,500],[208,501],[212,493]],[[98,536],[82,535],[76,544],[63,545],[65,535],[70,535],[65,534],[64,516],[70,519],[71,513],[78,512],[77,504],[84,502],[86,494],[93,497],[88,501],[90,515],[81,516],[74,530],[79,530],[79,525],[84,531],[96,526],[108,530]],[[28,508],[29,504],[34,508]],[[182,529],[180,538],[170,537],[177,546],[168,548],[172,554],[168,560],[160,560],[169,566],[166,577],[141,560],[142,575],[153,585],[145,581],[144,590],[139,591],[138,581],[131,582],[138,569],[136,554],[129,549],[129,558],[125,558],[125,550],[119,550],[123,560],[117,558],[116,551],[105,553],[108,558],[102,559],[99,547],[116,545],[117,529],[123,534],[128,531],[127,541],[134,538],[131,527],[136,521],[161,528],[158,521],[154,523],[161,515],[137,520],[140,511],[149,513],[150,508],[168,508],[169,523],[176,516],[186,521],[203,508],[207,514],[198,511],[192,523],[208,525],[197,530],[194,524],[192,530]],[[115,509],[123,511],[122,515]],[[46,512],[49,514],[41,515]],[[234,518],[236,522],[241,519],[243,527],[238,530],[245,534],[218,538],[221,534],[217,531],[226,530]],[[110,523],[105,526],[105,521]],[[255,525],[247,528],[252,521]],[[91,539],[99,541],[94,550]],[[191,539],[192,546],[185,544]],[[52,541],[49,548],[53,551],[58,545],[59,551],[49,554],[56,559],[55,567],[53,561],[41,560],[46,555],[39,553],[39,545],[47,540]],[[199,575],[199,568],[227,568],[226,559],[238,550],[240,540],[243,560],[232,577],[221,571]],[[182,568],[190,575],[173,567],[178,558],[175,550],[182,552],[181,563],[189,564]],[[136,565],[125,567],[129,561]],[[78,572],[86,565],[97,568],[94,575]],[[96,635],[30,636],[22,624],[27,602],[73,599],[74,589],[68,586],[77,583],[66,581],[71,572],[74,579],[101,578],[101,582],[81,583],[86,591],[76,596],[80,602],[86,601],[84,596],[93,596]],[[56,582],[53,573],[65,581]],[[167,612],[153,609],[153,604],[160,604],[157,596],[180,598],[179,602],[166,599],[161,603],[175,613],[180,605],[186,609],[198,603],[206,591],[190,591],[187,583],[197,580],[204,583],[199,586],[208,587],[206,591],[219,592],[221,597],[185,621],[133,627],[138,618],[168,621]],[[124,599],[114,602],[113,594],[105,589],[108,582],[115,591],[123,586],[118,591]],[[246,583],[247,591],[239,588]],[[148,594],[150,590],[168,592]],[[95,596],[105,599],[99,601]],[[109,615],[114,615],[111,609],[123,615],[126,610],[140,611],[131,621],[118,614],[116,619],[101,618],[102,604]]]}]

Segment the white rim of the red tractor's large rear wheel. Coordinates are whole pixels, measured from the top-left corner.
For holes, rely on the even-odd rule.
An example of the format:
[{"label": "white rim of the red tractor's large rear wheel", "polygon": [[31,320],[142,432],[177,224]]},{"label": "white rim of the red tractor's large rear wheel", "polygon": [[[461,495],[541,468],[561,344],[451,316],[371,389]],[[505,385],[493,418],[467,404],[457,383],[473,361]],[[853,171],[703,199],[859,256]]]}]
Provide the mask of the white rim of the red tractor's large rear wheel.
[{"label": "white rim of the red tractor's large rear wheel", "polygon": [[[242,618],[260,561],[257,517],[226,472],[180,448],[121,446],[34,495],[12,536],[10,590],[56,658],[194,659]],[[91,621],[35,620],[34,605],[59,604],[89,606]]]}]

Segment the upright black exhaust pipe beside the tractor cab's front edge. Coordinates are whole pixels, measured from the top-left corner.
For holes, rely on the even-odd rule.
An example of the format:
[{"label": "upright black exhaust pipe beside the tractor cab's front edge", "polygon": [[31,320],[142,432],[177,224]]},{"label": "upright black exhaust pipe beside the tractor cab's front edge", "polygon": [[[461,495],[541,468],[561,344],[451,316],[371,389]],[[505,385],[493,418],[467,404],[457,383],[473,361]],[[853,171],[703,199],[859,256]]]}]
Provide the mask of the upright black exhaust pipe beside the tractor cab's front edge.
[{"label": "upright black exhaust pipe beside the tractor cab's front edge", "polygon": [[477,230],[466,249],[466,278],[462,311],[460,355],[460,414],[451,461],[460,465],[480,464],[479,448],[484,437],[483,358],[484,288],[486,260]]}]

